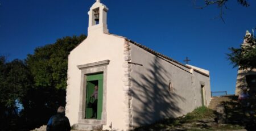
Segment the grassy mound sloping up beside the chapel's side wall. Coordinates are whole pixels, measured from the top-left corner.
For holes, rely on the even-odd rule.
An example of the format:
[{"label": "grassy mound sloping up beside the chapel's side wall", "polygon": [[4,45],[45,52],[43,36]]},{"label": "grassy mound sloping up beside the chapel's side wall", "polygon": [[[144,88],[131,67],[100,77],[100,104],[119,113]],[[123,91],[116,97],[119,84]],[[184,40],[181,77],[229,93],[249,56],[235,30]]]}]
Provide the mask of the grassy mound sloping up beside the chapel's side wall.
[{"label": "grassy mound sloping up beside the chapel's side wall", "polygon": [[196,108],[193,112],[176,119],[165,119],[135,130],[237,130],[239,125],[217,124],[215,113],[207,107]]}]

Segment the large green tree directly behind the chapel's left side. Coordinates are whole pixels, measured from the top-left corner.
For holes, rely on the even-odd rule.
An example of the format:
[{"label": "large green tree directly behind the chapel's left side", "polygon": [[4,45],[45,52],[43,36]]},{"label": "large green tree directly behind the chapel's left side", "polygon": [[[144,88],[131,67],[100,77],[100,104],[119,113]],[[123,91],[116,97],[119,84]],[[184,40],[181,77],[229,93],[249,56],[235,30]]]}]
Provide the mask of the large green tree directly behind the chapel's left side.
[{"label": "large green tree directly behind the chapel's left side", "polygon": [[54,44],[36,48],[34,54],[28,54],[26,64],[33,85],[22,101],[22,115],[27,118],[26,124],[31,129],[46,124],[57,107],[65,106],[68,55],[84,39],[85,35],[63,37]]}]

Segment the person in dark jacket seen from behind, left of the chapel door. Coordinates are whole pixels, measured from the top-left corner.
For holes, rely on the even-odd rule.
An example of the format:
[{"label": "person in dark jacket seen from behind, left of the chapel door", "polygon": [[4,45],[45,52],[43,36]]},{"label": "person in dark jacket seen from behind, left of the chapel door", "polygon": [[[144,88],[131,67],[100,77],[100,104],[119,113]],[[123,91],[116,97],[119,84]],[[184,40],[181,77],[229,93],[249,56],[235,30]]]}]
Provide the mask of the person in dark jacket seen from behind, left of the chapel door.
[{"label": "person in dark jacket seen from behind, left of the chapel door", "polygon": [[70,131],[71,126],[68,117],[65,116],[65,108],[59,107],[57,114],[52,116],[47,123],[47,131]]}]

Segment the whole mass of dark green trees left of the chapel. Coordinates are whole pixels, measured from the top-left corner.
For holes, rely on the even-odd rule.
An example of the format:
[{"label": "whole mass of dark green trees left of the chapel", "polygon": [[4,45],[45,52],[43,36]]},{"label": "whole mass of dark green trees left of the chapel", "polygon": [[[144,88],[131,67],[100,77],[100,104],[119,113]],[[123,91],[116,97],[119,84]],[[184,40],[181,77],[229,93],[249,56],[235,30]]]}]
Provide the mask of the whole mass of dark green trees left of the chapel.
[{"label": "whole mass of dark green trees left of the chapel", "polygon": [[[85,35],[63,37],[35,49],[25,62],[0,56],[0,128],[31,130],[46,124],[59,105],[65,106],[68,54]],[[15,115],[16,102],[23,105]]]}]

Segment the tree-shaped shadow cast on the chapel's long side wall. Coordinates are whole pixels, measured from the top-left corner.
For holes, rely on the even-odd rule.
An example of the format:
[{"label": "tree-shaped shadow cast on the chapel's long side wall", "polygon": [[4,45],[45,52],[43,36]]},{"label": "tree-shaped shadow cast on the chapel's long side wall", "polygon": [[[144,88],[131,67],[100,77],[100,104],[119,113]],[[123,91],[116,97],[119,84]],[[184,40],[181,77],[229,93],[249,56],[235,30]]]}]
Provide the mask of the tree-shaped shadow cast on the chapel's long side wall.
[{"label": "tree-shaped shadow cast on the chapel's long side wall", "polygon": [[[167,76],[171,76],[171,74],[161,66],[159,61],[159,57],[155,56],[149,67],[143,65],[144,74],[137,71],[131,73],[133,123],[135,126],[174,117],[183,111],[177,104],[184,102],[185,99],[183,96],[175,94],[175,90],[174,93],[170,92]],[[133,74],[142,79],[134,79]]]}]

